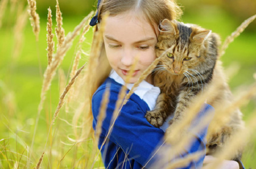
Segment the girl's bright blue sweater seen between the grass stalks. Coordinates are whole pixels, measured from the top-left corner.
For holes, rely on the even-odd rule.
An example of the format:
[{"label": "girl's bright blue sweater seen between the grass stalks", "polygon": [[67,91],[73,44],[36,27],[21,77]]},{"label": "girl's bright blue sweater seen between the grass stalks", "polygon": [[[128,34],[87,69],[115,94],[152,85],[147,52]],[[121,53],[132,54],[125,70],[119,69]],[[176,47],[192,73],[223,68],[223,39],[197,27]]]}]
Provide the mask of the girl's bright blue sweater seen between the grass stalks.
[{"label": "girl's bright blue sweater seen between the grass stalks", "polygon": [[[98,90],[93,96],[92,110],[94,119],[97,119],[103,93],[104,90]],[[118,87],[112,86],[109,104],[106,109],[106,118],[102,123],[101,135],[105,135],[106,131],[108,131],[111,126],[110,124],[118,93]],[[211,108],[211,106],[207,105],[203,111],[207,111],[209,108]],[[135,160],[141,165],[144,165],[148,159],[152,157],[154,150],[163,143],[162,140],[164,136],[163,130],[155,128],[145,119],[147,110],[149,110],[149,108],[146,103],[137,95],[133,94],[129,101],[122,107],[119,116],[115,121],[113,131],[109,136],[111,142],[116,143],[123,150],[129,152],[130,157],[136,157]],[[186,154],[191,154],[197,151],[205,151],[204,139],[206,131],[207,128],[203,132],[195,133],[196,136],[195,140],[193,140],[193,145],[189,148],[184,148],[184,153],[179,154],[178,157],[183,157]],[[102,143],[99,144],[101,145]],[[168,153],[172,152],[170,151]],[[153,158],[151,162],[154,162],[156,158],[157,156]],[[204,156],[198,161],[193,161],[189,166],[194,165],[196,167],[201,167],[203,158]],[[189,166],[187,168],[189,168]]]}]

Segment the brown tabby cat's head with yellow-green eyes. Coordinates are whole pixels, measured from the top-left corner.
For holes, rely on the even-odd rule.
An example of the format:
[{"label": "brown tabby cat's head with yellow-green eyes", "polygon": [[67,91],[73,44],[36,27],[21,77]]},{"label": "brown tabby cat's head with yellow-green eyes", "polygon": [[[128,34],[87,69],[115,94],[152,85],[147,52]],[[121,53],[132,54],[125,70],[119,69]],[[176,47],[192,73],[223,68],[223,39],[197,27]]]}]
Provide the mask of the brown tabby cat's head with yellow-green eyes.
[{"label": "brown tabby cat's head with yellow-green eyes", "polygon": [[159,24],[160,35],[156,44],[156,55],[159,57],[166,49],[174,45],[173,51],[162,57],[160,64],[172,74],[182,74],[194,69],[205,61],[200,55],[205,40],[211,31],[197,25],[185,25],[176,20],[164,19]]}]

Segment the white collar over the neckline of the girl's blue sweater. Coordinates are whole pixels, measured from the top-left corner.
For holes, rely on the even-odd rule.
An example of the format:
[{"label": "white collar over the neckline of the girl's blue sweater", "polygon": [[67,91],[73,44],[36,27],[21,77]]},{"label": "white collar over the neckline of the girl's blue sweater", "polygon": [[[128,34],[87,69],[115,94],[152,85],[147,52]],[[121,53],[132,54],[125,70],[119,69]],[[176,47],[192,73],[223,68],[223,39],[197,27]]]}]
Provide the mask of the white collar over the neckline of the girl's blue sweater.
[{"label": "white collar over the neckline of the girl's blue sweater", "polygon": [[[113,69],[109,77],[114,79],[116,82],[120,83],[121,85],[125,84],[124,80]],[[127,88],[131,90],[133,85],[134,85],[133,83],[128,83]],[[147,103],[148,107],[150,107],[150,109],[153,110],[156,105],[157,97],[160,94],[160,89],[158,87],[151,85],[147,81],[143,80],[139,84],[137,89],[134,91],[134,93],[138,95],[140,99],[144,100]]]}]

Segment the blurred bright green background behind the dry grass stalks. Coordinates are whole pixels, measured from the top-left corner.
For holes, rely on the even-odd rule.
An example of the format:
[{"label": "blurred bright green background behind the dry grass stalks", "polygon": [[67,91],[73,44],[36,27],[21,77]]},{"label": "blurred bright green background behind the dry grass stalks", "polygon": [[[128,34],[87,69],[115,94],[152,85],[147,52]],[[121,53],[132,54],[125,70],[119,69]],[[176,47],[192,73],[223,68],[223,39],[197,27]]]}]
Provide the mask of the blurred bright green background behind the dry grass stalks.
[{"label": "blurred bright green background behind the dry grass stalks", "polygon": [[[127,0],[128,1],[128,0]],[[3,0],[0,1],[3,2]],[[53,25],[55,27],[55,6],[53,0],[37,0],[37,12],[40,16],[40,34],[39,41],[36,42],[32,32],[30,21],[27,18],[27,23],[24,29],[15,33],[15,25],[20,20],[18,18],[25,11],[27,1],[10,0],[7,8],[3,11],[2,27],[0,27],[0,148],[1,152],[8,149],[9,151],[23,152],[24,147],[30,146],[37,107],[40,101],[40,91],[42,86],[42,74],[47,67],[47,41],[46,41],[46,25],[49,6],[53,12]],[[237,27],[248,17],[256,14],[255,0],[180,0],[177,1],[183,9],[181,21],[185,23],[199,24],[206,29],[210,29],[218,33],[222,42],[229,36]],[[94,0],[59,0],[60,10],[63,17],[63,28],[67,35],[74,27],[79,24],[84,16],[88,15],[91,10],[96,9],[97,2]],[[54,32],[53,32],[54,33]],[[55,33],[54,33],[55,34]],[[80,65],[87,61],[90,52],[90,44],[92,40],[92,29],[86,35],[86,42],[83,43],[82,59]],[[68,51],[60,68],[68,77],[70,67],[75,55],[75,44]],[[56,38],[55,38],[56,45]],[[239,96],[243,91],[246,91],[249,86],[255,82],[253,74],[256,72],[256,20],[253,21],[246,30],[231,43],[223,55],[221,60],[225,69],[233,68],[237,71],[230,80],[229,85],[235,96]],[[15,52],[18,54],[15,55]],[[61,71],[59,71],[61,72]],[[35,149],[37,154],[33,156],[33,162],[38,161],[40,153],[45,144],[45,137],[48,133],[49,117],[52,116],[57,103],[59,93],[62,91],[60,75],[56,75],[51,90],[47,94],[47,100],[44,110],[41,112],[38,125],[38,133],[35,140]],[[62,79],[63,81],[63,79]],[[67,79],[64,79],[67,84]],[[76,107],[71,107],[70,111]],[[244,120],[248,120],[256,109],[255,97],[248,102],[248,105],[241,108],[244,114]],[[66,119],[69,122],[73,114],[65,113],[61,110],[60,118]],[[61,139],[65,143],[70,143],[67,139],[72,135],[72,127],[68,127],[65,122],[58,120],[56,122],[57,135],[61,135]],[[60,125],[61,124],[61,125]],[[58,127],[61,126],[61,127]],[[70,135],[69,135],[70,134]],[[7,138],[7,139],[4,139]],[[255,152],[256,141],[255,134],[251,136],[250,142],[245,150],[243,162],[246,168],[255,168]],[[58,142],[57,142],[58,143]],[[70,145],[62,145],[61,153],[67,152]],[[77,151],[77,150],[76,150]],[[58,152],[58,150],[56,150]],[[56,158],[61,157],[58,153],[54,154]],[[5,153],[0,154],[0,159],[3,161]],[[15,154],[15,153],[14,153]],[[57,154],[57,155],[56,155]],[[74,162],[74,152],[67,156],[67,163]],[[82,156],[78,153],[77,156]],[[25,157],[24,157],[25,158]],[[78,157],[77,157],[78,158]],[[14,157],[15,159],[15,157]],[[26,159],[24,159],[26,161]],[[2,166],[0,162],[0,166]],[[44,161],[45,166],[47,160]],[[99,162],[97,167],[102,166]],[[2,166],[5,168],[5,166]]]}]

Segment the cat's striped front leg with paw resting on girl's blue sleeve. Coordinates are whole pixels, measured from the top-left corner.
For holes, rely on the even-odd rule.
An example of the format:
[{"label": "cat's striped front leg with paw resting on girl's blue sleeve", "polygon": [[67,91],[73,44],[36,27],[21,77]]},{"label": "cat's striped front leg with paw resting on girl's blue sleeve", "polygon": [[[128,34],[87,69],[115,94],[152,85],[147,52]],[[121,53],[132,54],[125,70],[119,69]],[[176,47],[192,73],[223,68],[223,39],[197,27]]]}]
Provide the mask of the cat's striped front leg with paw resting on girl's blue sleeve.
[{"label": "cat's striped front leg with paw resting on girl's blue sleeve", "polygon": [[161,93],[156,102],[155,109],[146,112],[146,120],[155,127],[160,127],[171,114],[172,100],[165,93]]}]

